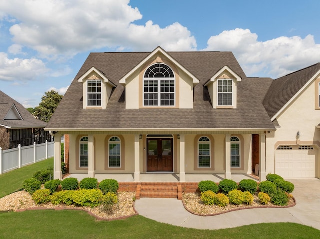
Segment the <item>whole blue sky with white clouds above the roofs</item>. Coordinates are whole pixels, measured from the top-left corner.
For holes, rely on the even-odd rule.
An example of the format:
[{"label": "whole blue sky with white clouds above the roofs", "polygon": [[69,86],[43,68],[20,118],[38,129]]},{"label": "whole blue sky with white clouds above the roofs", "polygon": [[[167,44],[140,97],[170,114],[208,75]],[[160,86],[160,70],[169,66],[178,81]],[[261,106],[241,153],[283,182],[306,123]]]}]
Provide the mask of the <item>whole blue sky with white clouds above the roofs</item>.
[{"label": "whole blue sky with white clouds above the roofs", "polygon": [[0,90],[64,94],[90,52],[232,51],[248,77],[320,62],[318,0],[0,0]]}]

